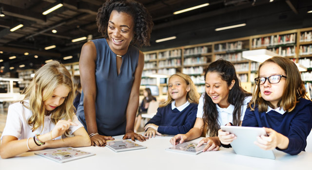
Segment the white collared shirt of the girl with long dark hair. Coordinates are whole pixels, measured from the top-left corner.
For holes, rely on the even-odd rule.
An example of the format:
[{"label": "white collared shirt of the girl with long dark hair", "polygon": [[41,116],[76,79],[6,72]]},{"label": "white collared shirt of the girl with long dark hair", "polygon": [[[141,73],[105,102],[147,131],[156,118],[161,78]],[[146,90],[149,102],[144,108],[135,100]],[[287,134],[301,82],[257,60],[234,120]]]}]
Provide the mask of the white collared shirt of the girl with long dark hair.
[{"label": "white collared shirt of the girl with long dark hair", "polygon": [[[204,96],[205,94],[202,94],[199,99],[198,103],[198,109],[197,109],[197,118],[203,118],[204,115]],[[245,111],[247,109],[247,104],[250,102],[252,99],[252,96],[248,96],[245,98],[243,105],[241,106],[241,116],[240,120],[244,119],[245,116]],[[229,122],[233,123],[233,111],[234,111],[234,105],[230,104],[227,108],[221,108],[216,105],[216,109],[218,111],[218,124],[221,125],[226,125]]]}]

